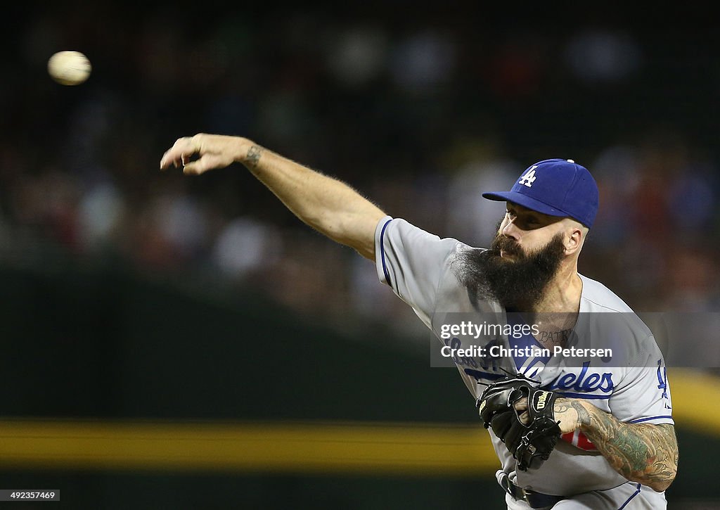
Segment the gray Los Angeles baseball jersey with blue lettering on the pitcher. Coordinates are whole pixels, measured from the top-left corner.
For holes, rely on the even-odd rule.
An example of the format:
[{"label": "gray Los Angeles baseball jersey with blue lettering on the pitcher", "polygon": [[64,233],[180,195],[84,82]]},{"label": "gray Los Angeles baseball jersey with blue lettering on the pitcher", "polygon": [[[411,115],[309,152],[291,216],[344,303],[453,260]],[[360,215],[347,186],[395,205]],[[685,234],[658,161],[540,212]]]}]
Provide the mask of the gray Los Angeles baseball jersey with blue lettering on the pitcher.
[{"label": "gray Los Angeles baseball jersey with blue lettering on the pitcher", "polygon": [[[453,238],[439,238],[400,218],[387,216],[377,225],[375,259],[380,281],[390,285],[395,294],[415,310],[440,340],[440,346],[449,346],[450,341],[459,342],[456,337],[448,339],[448,335],[442,334],[443,326],[449,319],[459,317],[457,314],[505,313],[497,302],[474,299],[456,277],[454,261],[457,254],[467,249],[470,249],[467,244]],[[580,278],[580,316],[617,314],[612,316],[618,318],[613,326],[616,334],[611,334],[608,341],[616,349],[614,359],[622,362],[608,366],[602,357],[567,362],[562,357],[534,359],[529,356],[518,360],[507,355],[500,357],[497,364],[478,364],[472,359],[455,358],[472,397],[479,397],[485,384],[503,377],[503,369],[513,370],[539,380],[543,388],[586,399],[620,421],[674,424],[665,362],[652,332],[611,290],[593,279],[582,275]],[[586,321],[584,325],[578,321],[575,327],[578,345],[586,338],[602,336],[603,328],[607,328],[606,321]],[[503,341],[509,345],[508,336]],[[618,351],[621,354],[617,354]],[[516,483],[525,488],[568,496],[606,491],[628,483],[579,432],[565,434],[541,468],[517,473],[516,461],[505,444],[492,430],[490,436],[502,469],[512,473]],[[658,494],[650,488],[644,491]]]}]

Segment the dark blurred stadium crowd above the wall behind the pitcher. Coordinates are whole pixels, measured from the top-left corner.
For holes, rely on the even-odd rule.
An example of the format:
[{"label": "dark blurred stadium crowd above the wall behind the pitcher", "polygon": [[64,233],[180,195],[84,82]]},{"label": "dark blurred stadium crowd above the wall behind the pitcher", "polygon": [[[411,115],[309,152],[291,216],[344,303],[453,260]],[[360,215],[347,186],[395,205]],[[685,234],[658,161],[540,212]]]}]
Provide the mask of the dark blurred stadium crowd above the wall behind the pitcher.
[{"label": "dark blurred stadium crowd above the wall behind the pitcher", "polygon": [[[30,10],[11,30],[18,72],[0,85],[6,262],[53,264],[53,246],[202,274],[320,321],[425,331],[372,263],[302,225],[242,167],[158,171],[176,138],[222,133],[475,246],[503,214],[480,192],[573,158],[601,189],[580,272],[636,310],[718,309],[720,73],[694,49],[714,35],[592,13],[556,30],[462,11]],[[50,81],[61,49],[89,56],[86,84]]]}]

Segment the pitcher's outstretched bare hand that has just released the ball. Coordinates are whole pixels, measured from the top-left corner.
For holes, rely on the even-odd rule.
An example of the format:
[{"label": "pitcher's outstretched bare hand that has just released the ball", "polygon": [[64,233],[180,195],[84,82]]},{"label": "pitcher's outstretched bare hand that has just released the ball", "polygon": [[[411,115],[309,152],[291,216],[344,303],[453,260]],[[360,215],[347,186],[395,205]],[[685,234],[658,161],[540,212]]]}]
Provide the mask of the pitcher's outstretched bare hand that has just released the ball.
[{"label": "pitcher's outstretched bare hand that has just released the ball", "polygon": [[[199,175],[208,170],[225,168],[235,161],[240,161],[245,141],[244,138],[235,136],[204,133],[178,138],[163,154],[160,169],[168,169],[171,165],[175,168],[182,166],[184,174]],[[197,158],[193,159],[193,156]]]}]

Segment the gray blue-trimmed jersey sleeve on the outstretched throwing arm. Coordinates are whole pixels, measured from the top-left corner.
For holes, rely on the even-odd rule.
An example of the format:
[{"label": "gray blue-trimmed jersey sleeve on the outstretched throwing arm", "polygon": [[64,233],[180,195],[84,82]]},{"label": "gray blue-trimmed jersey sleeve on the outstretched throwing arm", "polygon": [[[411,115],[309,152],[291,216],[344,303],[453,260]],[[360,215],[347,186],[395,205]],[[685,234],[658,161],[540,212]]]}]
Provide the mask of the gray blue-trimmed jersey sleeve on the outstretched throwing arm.
[{"label": "gray blue-trimmed jersey sleeve on the outstretched throwing arm", "polygon": [[378,278],[390,285],[428,328],[441,277],[459,246],[464,245],[456,239],[441,239],[400,218],[386,216],[375,229]]}]

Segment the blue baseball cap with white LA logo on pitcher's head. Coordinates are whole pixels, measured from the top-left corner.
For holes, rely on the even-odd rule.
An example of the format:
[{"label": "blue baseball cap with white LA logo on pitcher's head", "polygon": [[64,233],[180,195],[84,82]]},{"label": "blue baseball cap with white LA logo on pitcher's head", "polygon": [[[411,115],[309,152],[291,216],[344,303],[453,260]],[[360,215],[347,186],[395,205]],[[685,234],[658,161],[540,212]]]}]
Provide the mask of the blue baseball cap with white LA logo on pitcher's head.
[{"label": "blue baseball cap with white LA logo on pitcher's head", "polygon": [[550,216],[568,216],[586,227],[598,213],[598,184],[572,159],[545,159],[529,166],[509,192],[488,192],[489,200],[513,202]]}]

